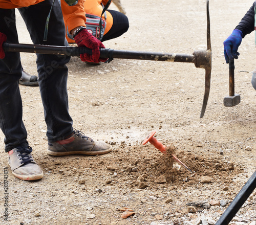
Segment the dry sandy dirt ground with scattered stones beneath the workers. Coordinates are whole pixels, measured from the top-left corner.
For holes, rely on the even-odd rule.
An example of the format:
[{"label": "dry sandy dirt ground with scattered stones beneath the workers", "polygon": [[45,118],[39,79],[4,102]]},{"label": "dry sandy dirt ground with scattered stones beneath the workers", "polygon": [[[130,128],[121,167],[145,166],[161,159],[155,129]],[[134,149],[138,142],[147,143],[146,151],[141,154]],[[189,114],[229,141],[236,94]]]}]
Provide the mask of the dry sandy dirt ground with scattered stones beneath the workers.
[{"label": "dry sandy dirt ground with scattered stones beneath the workers", "polygon": [[[106,48],[184,54],[206,49],[206,1],[122,2],[130,29],[104,42]],[[45,176],[37,182],[16,179],[0,133],[1,224],[214,224],[255,171],[256,92],[250,83],[256,67],[253,33],[243,39],[235,61],[235,92],[241,95],[241,103],[231,108],[223,105],[228,94],[223,41],[252,2],[209,3],[211,89],[201,119],[205,72],[192,63],[114,59],[91,66],[71,58],[68,91],[74,127],[111,143],[109,154],[47,155],[39,89],[20,86],[28,141]],[[19,41],[30,43],[18,13],[17,25]],[[35,59],[34,54],[22,54],[25,70],[34,75]],[[173,165],[172,158],[151,144],[142,145],[152,130],[195,172]],[[202,182],[203,176],[209,177],[209,183]],[[255,225],[255,202],[254,191],[231,223]],[[119,209],[124,207],[134,214],[121,218]]]}]

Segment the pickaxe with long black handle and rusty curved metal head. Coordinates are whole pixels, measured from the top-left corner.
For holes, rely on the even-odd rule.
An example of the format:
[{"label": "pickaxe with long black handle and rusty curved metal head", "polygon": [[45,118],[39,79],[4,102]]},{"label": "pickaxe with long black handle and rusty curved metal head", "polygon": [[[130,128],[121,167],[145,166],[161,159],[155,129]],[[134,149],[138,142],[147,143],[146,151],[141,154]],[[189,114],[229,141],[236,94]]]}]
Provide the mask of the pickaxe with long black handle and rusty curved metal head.
[{"label": "pickaxe with long black handle and rusty curved metal head", "polygon": [[[207,9],[207,50],[198,50],[193,54],[176,54],[176,53],[158,53],[158,52],[136,52],[123,51],[113,49],[100,49],[101,58],[120,58],[120,59],[139,59],[139,60],[155,60],[169,62],[193,62],[197,68],[205,69],[205,92],[203,106],[200,118],[204,116],[209,92],[210,92],[210,75],[211,75],[211,44],[210,44],[210,17],[209,17],[209,0],[206,1]],[[92,54],[90,49],[86,47],[62,47],[62,46],[46,46],[40,44],[14,44],[4,43],[4,51],[6,52],[29,52],[37,54],[54,54],[80,56],[80,54]]]}]

